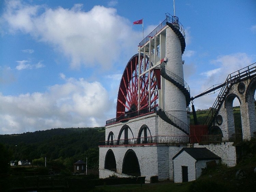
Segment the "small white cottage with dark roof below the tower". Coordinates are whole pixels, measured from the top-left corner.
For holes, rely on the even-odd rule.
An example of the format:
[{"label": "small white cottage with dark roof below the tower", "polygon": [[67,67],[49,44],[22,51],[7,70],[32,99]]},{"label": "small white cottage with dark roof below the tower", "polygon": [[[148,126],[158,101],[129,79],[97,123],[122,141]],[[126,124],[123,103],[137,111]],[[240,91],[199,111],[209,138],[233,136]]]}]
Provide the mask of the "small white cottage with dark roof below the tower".
[{"label": "small white cottage with dark roof below the tower", "polygon": [[196,180],[207,164],[220,162],[220,157],[207,148],[183,148],[173,158],[174,183]]}]

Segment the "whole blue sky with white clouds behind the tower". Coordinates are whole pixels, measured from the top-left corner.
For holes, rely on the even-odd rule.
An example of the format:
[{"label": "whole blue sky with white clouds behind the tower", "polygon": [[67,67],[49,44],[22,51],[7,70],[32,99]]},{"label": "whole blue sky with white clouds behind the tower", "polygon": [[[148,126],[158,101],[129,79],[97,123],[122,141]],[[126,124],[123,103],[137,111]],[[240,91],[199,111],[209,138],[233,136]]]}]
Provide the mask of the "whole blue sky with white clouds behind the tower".
[{"label": "whole blue sky with white clouds behind the tower", "polygon": [[[256,62],[255,0],[176,0],[191,96]],[[0,0],[0,134],[104,126],[120,78],[173,1]],[[194,100],[212,106],[217,94]]]}]

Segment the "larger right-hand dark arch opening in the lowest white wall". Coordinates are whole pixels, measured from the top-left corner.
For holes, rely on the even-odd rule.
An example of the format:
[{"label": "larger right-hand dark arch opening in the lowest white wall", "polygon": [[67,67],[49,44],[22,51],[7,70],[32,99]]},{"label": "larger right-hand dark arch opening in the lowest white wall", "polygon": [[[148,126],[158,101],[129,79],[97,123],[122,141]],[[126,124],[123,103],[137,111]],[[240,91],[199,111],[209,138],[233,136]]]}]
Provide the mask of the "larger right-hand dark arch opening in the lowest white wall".
[{"label": "larger right-hand dark arch opening in the lowest white wall", "polygon": [[139,160],[136,153],[132,149],[126,151],[123,157],[122,173],[136,177],[141,176]]}]

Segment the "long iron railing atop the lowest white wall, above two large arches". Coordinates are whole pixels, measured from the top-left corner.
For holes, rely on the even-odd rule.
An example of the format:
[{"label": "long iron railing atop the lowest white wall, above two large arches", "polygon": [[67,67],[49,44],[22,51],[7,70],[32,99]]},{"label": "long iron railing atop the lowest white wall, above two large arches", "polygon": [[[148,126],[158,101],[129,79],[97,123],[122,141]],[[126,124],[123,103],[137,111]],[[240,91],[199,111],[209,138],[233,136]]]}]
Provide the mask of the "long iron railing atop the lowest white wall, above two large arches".
[{"label": "long iron railing atop the lowest white wall, above two large arches", "polygon": [[148,145],[148,144],[187,144],[189,136],[151,136],[122,140],[100,141],[99,145]]}]

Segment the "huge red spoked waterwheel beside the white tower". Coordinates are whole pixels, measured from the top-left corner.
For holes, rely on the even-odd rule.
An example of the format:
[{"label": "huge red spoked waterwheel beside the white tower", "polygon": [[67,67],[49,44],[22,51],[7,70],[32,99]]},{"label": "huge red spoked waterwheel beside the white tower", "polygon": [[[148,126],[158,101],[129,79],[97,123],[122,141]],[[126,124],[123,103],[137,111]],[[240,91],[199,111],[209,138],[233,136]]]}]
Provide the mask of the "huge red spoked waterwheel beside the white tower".
[{"label": "huge red spoked waterwheel beside the white tower", "polygon": [[[140,102],[140,110],[151,109],[158,106],[158,89],[160,88],[160,70],[153,69],[147,71],[150,67],[148,57],[133,55],[127,63],[117,95],[117,114],[116,117],[127,113],[138,111],[138,103]],[[140,86],[139,86],[139,66],[141,66]],[[152,66],[152,64],[151,64]],[[150,77],[150,79],[149,79]],[[151,86],[149,86],[149,84]],[[149,94],[151,87],[151,94]],[[140,93],[140,98],[139,98]],[[149,97],[151,97],[149,101]],[[150,104],[150,105],[149,105]]]}]

